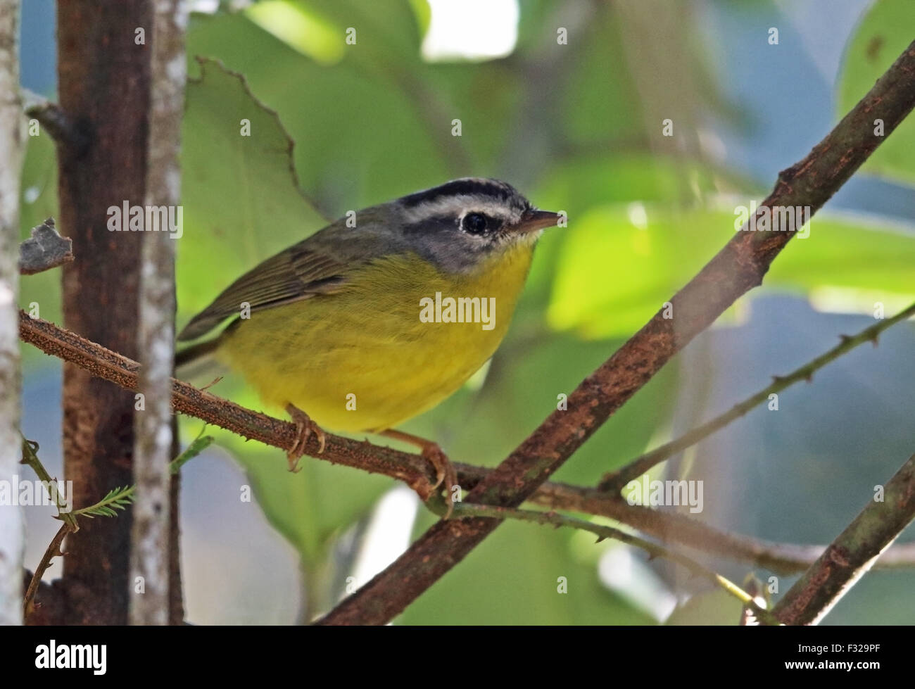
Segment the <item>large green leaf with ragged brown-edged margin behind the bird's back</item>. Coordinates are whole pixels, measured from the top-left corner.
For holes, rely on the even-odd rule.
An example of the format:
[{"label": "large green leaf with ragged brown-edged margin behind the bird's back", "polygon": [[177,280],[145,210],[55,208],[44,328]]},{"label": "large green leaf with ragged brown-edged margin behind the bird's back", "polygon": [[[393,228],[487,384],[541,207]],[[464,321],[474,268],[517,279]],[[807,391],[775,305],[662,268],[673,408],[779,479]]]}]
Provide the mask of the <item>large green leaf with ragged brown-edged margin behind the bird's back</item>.
[{"label": "large green leaf with ragged brown-edged margin behind the bird's back", "polygon": [[276,113],[218,62],[201,62],[200,72],[188,83],[182,132],[177,270],[186,316],[232,277],[326,224],[297,186],[293,142]]}]

